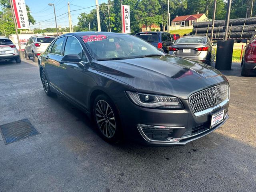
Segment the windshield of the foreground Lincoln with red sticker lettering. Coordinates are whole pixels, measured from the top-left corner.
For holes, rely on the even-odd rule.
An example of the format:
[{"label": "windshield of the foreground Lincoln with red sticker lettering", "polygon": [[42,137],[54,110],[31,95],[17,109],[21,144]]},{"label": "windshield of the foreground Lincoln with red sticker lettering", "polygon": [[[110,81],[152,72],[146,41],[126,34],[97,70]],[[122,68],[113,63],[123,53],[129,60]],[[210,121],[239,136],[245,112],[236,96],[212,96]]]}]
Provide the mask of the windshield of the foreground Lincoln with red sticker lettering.
[{"label": "windshield of the foreground Lincoln with red sticker lettering", "polygon": [[120,34],[81,36],[92,57],[96,60],[118,60],[165,55],[148,42]]}]

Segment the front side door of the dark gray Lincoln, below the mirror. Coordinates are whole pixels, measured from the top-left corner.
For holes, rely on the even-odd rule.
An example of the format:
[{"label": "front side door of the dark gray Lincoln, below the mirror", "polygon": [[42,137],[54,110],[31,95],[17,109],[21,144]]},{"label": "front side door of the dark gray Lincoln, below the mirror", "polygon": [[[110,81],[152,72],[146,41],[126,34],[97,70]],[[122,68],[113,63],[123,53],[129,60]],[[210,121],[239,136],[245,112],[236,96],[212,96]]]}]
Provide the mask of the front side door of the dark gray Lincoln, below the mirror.
[{"label": "front side door of the dark gray Lincoln, below the mirror", "polygon": [[81,62],[61,62],[59,70],[60,89],[63,94],[82,106],[86,107],[90,78],[88,58],[79,40],[74,36],[68,36],[64,48],[64,56],[77,54]]}]

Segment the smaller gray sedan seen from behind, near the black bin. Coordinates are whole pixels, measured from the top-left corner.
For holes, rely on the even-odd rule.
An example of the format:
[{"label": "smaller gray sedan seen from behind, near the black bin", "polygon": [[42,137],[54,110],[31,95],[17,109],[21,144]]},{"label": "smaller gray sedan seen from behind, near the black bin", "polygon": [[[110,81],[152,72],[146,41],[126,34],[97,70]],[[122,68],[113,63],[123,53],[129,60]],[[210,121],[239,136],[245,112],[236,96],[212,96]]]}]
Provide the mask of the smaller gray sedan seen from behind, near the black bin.
[{"label": "smaller gray sedan seen from behind, near the black bin", "polygon": [[[213,44],[215,46],[215,44]],[[204,62],[208,65],[215,59],[215,50],[206,36],[185,36],[169,47],[169,54]]]}]

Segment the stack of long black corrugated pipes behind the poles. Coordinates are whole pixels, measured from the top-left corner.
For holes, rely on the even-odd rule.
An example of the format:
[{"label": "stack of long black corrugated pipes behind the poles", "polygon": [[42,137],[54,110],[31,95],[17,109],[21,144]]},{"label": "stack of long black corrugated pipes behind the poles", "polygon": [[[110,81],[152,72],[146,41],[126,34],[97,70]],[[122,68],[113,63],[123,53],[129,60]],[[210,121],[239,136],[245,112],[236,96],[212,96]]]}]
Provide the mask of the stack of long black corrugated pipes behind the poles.
[{"label": "stack of long black corrugated pipes behind the poles", "polygon": [[[223,39],[225,35],[225,20],[214,22],[213,40]],[[250,38],[256,31],[256,17],[230,19],[228,25],[228,39]],[[194,35],[208,36],[212,32],[212,22],[194,23],[192,33]]]}]

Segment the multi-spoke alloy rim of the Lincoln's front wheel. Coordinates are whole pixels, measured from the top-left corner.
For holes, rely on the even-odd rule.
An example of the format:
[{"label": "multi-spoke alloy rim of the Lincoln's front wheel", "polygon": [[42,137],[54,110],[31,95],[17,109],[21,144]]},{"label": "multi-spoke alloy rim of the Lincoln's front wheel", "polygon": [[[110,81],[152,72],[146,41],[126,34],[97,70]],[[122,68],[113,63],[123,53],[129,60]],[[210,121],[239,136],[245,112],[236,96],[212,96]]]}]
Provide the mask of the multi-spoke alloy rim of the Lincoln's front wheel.
[{"label": "multi-spoke alloy rim of the Lincoln's front wheel", "polygon": [[95,115],[102,134],[111,138],[116,131],[116,120],[110,105],[104,100],[99,100],[96,104]]}]

